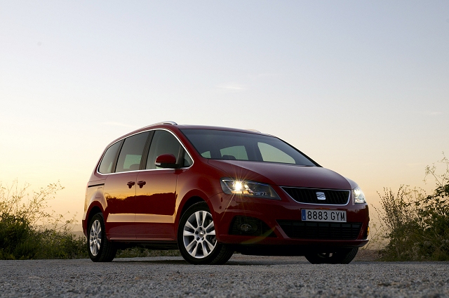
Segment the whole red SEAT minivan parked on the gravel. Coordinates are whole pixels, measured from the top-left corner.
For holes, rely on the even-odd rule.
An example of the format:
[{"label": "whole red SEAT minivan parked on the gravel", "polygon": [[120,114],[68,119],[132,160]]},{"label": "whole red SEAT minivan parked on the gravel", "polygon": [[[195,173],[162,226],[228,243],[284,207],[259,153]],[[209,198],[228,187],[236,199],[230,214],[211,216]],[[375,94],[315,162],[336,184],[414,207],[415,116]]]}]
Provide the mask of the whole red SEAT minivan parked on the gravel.
[{"label": "whole red SEAT minivan parked on the gravel", "polygon": [[259,131],[161,122],[110,143],[89,179],[83,231],[93,261],[140,246],[191,264],[234,252],[347,264],[368,242],[357,184]]}]

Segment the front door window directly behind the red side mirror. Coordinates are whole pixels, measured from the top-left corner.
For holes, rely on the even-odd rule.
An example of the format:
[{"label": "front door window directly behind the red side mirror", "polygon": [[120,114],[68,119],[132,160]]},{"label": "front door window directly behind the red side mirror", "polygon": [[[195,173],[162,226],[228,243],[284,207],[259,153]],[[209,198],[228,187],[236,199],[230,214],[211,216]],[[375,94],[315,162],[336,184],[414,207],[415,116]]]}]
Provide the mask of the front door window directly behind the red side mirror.
[{"label": "front door window directly behind the red side mirror", "polygon": [[146,169],[156,169],[154,161],[161,154],[173,154],[177,158],[181,148],[180,142],[177,141],[173,134],[163,130],[154,131],[152,144],[149,146]]}]

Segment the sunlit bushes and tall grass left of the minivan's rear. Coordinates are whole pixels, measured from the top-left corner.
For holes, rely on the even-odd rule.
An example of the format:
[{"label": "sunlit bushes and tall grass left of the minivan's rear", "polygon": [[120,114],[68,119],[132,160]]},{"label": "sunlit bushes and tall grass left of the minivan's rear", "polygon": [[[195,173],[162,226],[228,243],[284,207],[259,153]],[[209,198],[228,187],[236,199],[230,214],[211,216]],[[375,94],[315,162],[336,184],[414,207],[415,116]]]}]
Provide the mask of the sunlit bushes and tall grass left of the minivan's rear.
[{"label": "sunlit bushes and tall grass left of the minivan's rear", "polygon": [[74,218],[48,212],[62,187],[50,184],[27,195],[17,181],[9,188],[0,184],[0,259],[74,259],[87,257],[86,238],[72,233]]}]

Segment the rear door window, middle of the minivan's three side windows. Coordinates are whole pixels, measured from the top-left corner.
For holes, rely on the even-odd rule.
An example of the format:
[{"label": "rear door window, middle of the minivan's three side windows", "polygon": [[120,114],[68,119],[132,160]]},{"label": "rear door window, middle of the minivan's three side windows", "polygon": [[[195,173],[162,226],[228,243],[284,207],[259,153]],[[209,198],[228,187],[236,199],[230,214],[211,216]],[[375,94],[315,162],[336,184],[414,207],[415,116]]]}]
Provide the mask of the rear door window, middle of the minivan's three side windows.
[{"label": "rear door window, middle of the minivan's three side windows", "polygon": [[149,132],[135,134],[125,139],[121,148],[119,160],[117,160],[116,172],[136,171],[140,167],[143,149],[147,143]]}]

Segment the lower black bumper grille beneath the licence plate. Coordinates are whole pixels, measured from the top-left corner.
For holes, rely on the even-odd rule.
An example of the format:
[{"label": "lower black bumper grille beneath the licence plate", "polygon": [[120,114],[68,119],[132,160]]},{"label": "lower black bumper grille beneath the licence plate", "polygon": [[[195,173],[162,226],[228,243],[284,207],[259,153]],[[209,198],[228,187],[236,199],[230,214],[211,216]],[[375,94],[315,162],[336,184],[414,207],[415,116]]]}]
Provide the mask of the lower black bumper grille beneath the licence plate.
[{"label": "lower black bumper grille beneath the licence plate", "polygon": [[328,223],[318,221],[278,220],[279,226],[295,239],[355,240],[361,223]]}]

